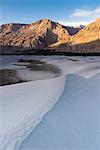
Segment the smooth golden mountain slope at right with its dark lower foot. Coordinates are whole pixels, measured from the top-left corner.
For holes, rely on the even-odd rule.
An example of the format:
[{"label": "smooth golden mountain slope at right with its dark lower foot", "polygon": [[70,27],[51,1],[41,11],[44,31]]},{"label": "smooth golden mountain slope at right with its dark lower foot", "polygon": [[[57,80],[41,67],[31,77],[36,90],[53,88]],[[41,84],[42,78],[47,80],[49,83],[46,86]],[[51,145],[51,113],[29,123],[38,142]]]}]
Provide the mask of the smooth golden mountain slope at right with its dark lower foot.
[{"label": "smooth golden mountain slope at right with its dark lower foot", "polygon": [[50,49],[72,53],[100,53],[100,18],[61,44],[50,45]]}]

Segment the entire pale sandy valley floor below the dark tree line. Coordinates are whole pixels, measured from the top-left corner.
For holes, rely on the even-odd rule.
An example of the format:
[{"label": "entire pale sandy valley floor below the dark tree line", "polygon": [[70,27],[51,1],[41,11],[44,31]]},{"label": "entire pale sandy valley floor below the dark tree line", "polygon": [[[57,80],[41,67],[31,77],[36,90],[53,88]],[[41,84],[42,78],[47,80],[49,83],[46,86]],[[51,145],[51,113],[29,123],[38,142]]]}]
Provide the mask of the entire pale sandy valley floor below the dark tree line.
[{"label": "entire pale sandy valley floor below the dark tree line", "polygon": [[2,80],[10,73],[0,81],[1,150],[100,149],[99,56],[0,56],[0,62]]}]

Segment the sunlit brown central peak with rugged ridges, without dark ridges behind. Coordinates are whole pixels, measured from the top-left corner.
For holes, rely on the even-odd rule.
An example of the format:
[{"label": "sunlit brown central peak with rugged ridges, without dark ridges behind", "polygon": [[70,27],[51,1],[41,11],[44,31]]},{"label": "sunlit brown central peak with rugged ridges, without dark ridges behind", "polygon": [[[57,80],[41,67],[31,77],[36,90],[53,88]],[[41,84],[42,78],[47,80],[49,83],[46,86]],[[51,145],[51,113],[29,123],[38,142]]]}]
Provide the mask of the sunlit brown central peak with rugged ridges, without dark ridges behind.
[{"label": "sunlit brown central peak with rugged ridges, without dark ridges behind", "polygon": [[[70,35],[59,23],[43,19],[23,26],[9,40],[3,40],[0,45],[17,47],[45,48],[56,42],[68,41]],[[3,39],[3,37],[2,37]]]}]

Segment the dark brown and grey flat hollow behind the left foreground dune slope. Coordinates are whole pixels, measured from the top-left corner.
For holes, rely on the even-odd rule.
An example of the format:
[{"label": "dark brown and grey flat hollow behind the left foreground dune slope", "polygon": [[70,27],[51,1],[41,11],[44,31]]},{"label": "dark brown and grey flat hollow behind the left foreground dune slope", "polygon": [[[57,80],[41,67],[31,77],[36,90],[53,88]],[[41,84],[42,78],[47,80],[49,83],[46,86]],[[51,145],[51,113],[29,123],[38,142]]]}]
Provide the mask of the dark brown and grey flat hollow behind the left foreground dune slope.
[{"label": "dark brown and grey flat hollow behind the left foreground dune slope", "polygon": [[0,86],[21,82],[58,77],[61,70],[40,60],[20,59],[14,63],[15,69],[0,69]]}]

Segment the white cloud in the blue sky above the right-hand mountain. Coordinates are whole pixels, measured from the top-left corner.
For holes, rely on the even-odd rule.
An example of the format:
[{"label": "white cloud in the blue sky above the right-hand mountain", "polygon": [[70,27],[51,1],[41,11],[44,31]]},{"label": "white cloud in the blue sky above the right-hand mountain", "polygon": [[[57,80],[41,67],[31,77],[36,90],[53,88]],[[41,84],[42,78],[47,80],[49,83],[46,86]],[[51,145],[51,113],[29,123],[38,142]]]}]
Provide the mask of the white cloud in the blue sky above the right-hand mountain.
[{"label": "white cloud in the blue sky above the right-hand mountain", "polygon": [[100,18],[100,6],[95,9],[75,9],[66,20],[59,20],[58,22],[65,26],[79,26],[80,24],[88,25],[95,21],[96,18]]}]

